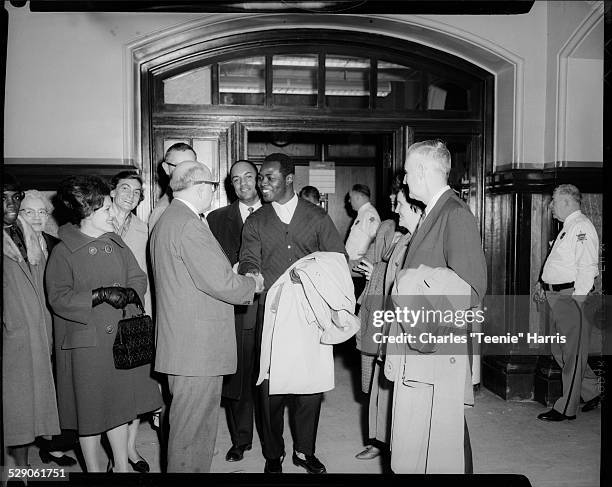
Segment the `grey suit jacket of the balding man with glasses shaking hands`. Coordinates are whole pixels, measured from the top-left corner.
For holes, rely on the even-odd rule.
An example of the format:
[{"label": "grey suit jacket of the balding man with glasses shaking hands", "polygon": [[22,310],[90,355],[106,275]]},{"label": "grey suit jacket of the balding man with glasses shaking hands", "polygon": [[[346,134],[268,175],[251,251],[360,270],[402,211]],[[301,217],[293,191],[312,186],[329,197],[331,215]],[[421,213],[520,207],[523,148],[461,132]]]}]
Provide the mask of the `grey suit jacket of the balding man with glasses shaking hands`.
[{"label": "grey suit jacket of the balding man with glasses shaking hands", "polygon": [[157,337],[155,370],[185,376],[236,372],[233,304],[251,304],[255,281],[239,276],[191,209],[172,200],[151,234]]}]

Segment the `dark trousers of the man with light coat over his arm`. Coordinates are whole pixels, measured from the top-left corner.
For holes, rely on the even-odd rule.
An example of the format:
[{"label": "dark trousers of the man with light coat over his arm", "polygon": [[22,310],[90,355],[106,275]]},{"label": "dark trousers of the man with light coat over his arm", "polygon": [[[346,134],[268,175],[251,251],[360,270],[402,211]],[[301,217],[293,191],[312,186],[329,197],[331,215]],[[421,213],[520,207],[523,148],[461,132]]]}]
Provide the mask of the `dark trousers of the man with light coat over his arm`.
[{"label": "dark trousers of the man with light coat over his arm", "polygon": [[266,379],[257,388],[257,396],[262,450],[266,460],[285,455],[283,429],[286,404],[294,433],[293,449],[305,455],[314,455],[323,394],[270,395],[269,381]]}]

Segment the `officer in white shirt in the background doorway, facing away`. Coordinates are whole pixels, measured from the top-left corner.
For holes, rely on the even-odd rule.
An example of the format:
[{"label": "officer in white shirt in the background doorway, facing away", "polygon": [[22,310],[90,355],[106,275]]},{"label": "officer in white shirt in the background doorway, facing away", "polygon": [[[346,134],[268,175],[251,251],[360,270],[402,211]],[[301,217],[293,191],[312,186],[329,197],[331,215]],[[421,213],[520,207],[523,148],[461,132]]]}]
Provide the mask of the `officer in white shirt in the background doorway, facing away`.
[{"label": "officer in white shirt in the background doorway, facing away", "polygon": [[365,184],[354,185],[349,192],[349,197],[353,210],[357,212],[357,218],[346,239],[346,253],[349,260],[356,261],[351,262],[352,267],[352,264],[358,264],[368,251],[380,225],[380,216],[370,203],[370,188]]}]

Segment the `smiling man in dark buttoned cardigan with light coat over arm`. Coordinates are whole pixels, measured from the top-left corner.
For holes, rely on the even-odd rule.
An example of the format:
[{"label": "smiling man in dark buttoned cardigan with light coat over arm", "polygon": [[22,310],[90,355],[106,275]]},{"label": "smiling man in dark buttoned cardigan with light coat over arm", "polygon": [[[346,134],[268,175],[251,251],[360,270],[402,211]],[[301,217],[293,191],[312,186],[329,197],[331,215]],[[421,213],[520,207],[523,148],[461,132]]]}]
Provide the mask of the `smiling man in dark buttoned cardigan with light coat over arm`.
[{"label": "smiling man in dark buttoned cardigan with light coat over arm", "polygon": [[[313,252],[345,253],[344,244],[325,210],[298,198],[293,190],[295,168],[284,154],[266,157],[258,177],[266,203],[250,216],[242,230],[241,274],[261,272],[265,289],[295,262]],[[265,296],[259,298],[256,346],[261,343]],[[287,347],[295,344],[287,343]],[[310,473],[324,473],[325,466],[315,456],[315,443],[322,393],[269,394],[266,379],[257,390],[264,472],[281,473],[285,457],[283,440],[284,406],[293,402],[295,438],[293,463]]]}]

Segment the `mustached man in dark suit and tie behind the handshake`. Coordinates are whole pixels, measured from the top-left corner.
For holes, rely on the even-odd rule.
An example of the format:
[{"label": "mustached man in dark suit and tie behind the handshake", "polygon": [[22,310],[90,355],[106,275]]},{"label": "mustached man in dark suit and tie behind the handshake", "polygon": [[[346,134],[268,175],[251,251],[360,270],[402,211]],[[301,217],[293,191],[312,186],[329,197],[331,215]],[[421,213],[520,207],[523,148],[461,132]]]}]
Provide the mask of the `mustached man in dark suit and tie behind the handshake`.
[{"label": "mustached man in dark suit and tie behind the handshake", "polygon": [[[237,200],[211,211],[206,219],[210,230],[223,247],[230,264],[238,262],[242,226],[251,213],[261,208],[257,193],[257,167],[251,161],[236,161],[230,168],[230,180]],[[250,306],[235,306],[238,368],[223,379],[221,395],[226,401],[227,425],[232,447],[225,455],[228,462],[242,460],[253,441],[253,367],[255,365],[255,321],[257,300]]]}]

